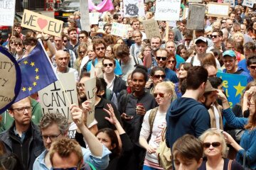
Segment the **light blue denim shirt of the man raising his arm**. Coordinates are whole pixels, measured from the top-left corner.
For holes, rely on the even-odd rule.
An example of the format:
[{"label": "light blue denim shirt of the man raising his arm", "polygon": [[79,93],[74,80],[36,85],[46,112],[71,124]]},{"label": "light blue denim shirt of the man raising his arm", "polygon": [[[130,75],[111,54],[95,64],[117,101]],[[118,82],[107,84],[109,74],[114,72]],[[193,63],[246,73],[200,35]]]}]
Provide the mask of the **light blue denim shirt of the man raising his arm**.
[{"label": "light blue denim shirt of the man raising his arm", "polygon": [[[89,148],[81,147],[81,149],[82,149],[84,162],[90,162],[93,166],[95,166],[96,169],[107,168],[110,161],[109,154],[111,153],[110,150],[107,149],[107,147],[103,145],[102,157],[93,156]],[[39,155],[36,158],[36,161],[33,164],[34,170],[51,170],[52,169],[52,168],[48,169],[44,161],[44,158],[46,157],[47,153],[48,153],[47,150],[45,150],[41,155]]]}]

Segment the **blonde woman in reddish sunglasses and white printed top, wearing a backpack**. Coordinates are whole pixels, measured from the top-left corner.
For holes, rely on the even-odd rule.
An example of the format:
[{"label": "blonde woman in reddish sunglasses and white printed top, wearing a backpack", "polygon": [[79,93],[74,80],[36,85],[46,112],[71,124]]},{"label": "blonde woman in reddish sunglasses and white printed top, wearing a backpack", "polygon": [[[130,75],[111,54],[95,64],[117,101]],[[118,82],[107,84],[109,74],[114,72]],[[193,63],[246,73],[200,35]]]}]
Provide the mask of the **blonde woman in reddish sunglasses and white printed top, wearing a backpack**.
[{"label": "blonde woman in reddish sunglasses and white printed top, wearing a backpack", "polygon": [[[158,107],[146,112],[142,123],[142,129],[139,135],[139,145],[146,149],[146,157],[144,159],[143,169],[163,169],[159,165],[156,157],[156,149],[159,147],[158,137],[166,128],[166,112],[171,105],[171,98],[175,94],[174,84],[171,81],[163,81],[156,85],[154,89],[154,98]],[[149,116],[155,114],[153,124],[150,125]],[[151,130],[150,130],[151,129]],[[149,142],[147,142],[150,137]]]}]

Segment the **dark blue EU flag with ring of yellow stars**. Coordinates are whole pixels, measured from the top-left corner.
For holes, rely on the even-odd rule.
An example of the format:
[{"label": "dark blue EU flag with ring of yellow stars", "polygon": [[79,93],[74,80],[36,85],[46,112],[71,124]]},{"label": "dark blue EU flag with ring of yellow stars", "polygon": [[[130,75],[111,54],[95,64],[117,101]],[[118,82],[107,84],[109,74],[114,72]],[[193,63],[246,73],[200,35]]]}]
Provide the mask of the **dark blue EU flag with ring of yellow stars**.
[{"label": "dark blue EU flag with ring of yellow stars", "polygon": [[21,68],[21,90],[15,102],[35,94],[57,80],[53,67],[40,42],[28,57],[19,60],[18,64]]}]

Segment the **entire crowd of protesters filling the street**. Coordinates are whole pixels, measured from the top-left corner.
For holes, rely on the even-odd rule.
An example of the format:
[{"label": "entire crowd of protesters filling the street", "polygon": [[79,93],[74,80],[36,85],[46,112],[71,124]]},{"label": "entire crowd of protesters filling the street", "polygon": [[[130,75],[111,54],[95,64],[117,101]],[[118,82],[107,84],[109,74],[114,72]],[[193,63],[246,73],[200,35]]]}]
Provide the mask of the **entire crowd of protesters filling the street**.
[{"label": "entire crowd of protesters filling the street", "polygon": [[[119,0],[113,5],[100,13],[102,28],[82,30],[75,12],[61,37],[23,35],[14,23],[1,40],[17,61],[42,42],[55,74],[74,74],[79,103],[70,106],[73,123],[43,114],[37,93],[1,113],[0,169],[166,169],[163,137],[169,169],[256,169],[255,8],[238,0],[228,17],[206,15],[203,30],[188,30],[183,0],[176,26],[157,21],[161,37],[148,39],[142,21],[154,19],[156,1],[145,1],[146,15],[137,18],[124,17]],[[112,35],[114,22],[127,24],[127,35]],[[87,125],[92,66],[95,120]],[[218,72],[246,77],[232,108]]]}]

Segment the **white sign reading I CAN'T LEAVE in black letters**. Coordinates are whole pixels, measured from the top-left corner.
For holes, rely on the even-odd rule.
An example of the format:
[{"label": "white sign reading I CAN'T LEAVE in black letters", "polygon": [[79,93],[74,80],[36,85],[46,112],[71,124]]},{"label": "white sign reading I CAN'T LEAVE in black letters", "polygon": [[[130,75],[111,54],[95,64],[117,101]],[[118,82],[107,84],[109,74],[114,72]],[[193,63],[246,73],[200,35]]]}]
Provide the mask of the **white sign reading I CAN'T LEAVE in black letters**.
[{"label": "white sign reading I CAN'T LEAVE in black letters", "polygon": [[65,73],[58,74],[58,77],[58,81],[38,91],[40,103],[43,113],[60,113],[71,122],[70,104],[78,104],[75,76],[73,73]]}]

